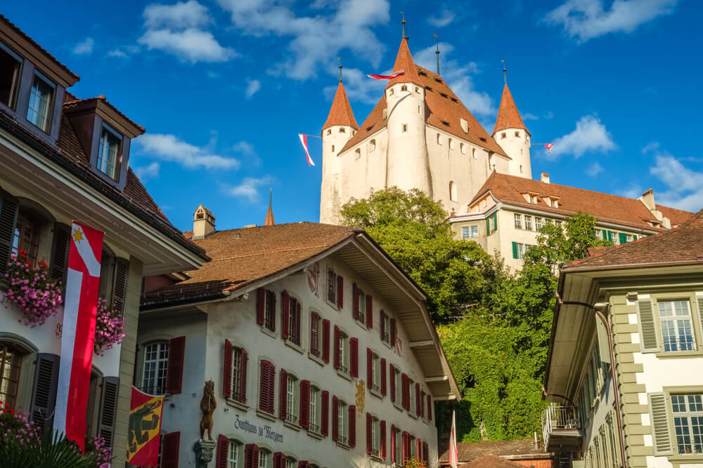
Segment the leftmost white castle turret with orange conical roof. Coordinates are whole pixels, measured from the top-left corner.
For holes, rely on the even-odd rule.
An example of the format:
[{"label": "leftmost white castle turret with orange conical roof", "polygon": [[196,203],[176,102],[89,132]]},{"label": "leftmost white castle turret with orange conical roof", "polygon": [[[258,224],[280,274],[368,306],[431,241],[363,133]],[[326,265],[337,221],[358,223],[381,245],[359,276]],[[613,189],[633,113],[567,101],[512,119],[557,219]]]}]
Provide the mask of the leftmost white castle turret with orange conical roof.
[{"label": "leftmost white castle turret with orange conical roof", "polygon": [[322,127],[320,222],[334,224],[339,219],[342,163],[337,158],[337,154],[357,130],[359,130],[359,125],[354,119],[354,112],[352,112],[352,105],[349,104],[347,92],[344,91],[342,66],[340,65],[340,84],[337,86],[330,114]]}]

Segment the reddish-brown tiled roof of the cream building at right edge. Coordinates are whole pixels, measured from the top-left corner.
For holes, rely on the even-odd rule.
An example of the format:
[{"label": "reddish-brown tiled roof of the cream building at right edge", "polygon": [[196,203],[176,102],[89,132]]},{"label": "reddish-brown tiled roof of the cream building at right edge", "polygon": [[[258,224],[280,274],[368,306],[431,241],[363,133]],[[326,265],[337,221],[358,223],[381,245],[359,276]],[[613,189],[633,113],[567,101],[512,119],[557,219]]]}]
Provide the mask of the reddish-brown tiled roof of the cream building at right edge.
[{"label": "reddish-brown tiled roof of the cream building at right edge", "polygon": [[703,264],[703,210],[681,227],[589,253],[583,260],[565,265],[563,271]]}]

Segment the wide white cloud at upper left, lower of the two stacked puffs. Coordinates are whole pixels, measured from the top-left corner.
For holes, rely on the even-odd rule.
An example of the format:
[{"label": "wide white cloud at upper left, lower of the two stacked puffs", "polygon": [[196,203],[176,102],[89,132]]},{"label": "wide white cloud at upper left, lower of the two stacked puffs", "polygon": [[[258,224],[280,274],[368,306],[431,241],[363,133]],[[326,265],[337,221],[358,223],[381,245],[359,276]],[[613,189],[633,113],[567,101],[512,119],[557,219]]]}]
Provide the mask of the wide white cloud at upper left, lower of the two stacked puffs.
[{"label": "wide white cloud at upper left, lower of the two stacked puffs", "polygon": [[186,62],[226,62],[236,57],[236,53],[223,47],[212,36],[212,33],[201,29],[148,29],[138,39],[149,49],[157,49],[172,53]]}]

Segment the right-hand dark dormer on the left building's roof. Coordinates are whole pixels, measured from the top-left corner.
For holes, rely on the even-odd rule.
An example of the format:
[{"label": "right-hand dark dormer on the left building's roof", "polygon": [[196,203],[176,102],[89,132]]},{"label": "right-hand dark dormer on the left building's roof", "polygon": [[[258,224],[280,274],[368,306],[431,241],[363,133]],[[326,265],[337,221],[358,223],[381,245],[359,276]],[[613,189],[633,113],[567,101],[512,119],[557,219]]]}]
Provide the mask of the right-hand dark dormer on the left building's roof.
[{"label": "right-hand dark dormer on the left building's roof", "polygon": [[122,190],[127,183],[131,139],[144,133],[105,96],[70,100],[63,110],[78,135],[93,172]]}]

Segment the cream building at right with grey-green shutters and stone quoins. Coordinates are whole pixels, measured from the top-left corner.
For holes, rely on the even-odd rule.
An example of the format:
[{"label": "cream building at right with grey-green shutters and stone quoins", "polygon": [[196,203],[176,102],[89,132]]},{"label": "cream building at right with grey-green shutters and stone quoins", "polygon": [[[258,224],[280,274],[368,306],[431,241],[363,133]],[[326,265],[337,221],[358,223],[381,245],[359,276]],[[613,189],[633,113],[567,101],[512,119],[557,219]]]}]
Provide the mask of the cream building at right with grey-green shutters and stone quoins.
[{"label": "cream building at right with grey-green shutters and stone quoins", "polygon": [[703,466],[702,258],[699,212],[562,269],[545,377],[548,450],[574,467]]}]

